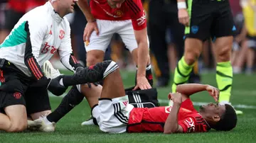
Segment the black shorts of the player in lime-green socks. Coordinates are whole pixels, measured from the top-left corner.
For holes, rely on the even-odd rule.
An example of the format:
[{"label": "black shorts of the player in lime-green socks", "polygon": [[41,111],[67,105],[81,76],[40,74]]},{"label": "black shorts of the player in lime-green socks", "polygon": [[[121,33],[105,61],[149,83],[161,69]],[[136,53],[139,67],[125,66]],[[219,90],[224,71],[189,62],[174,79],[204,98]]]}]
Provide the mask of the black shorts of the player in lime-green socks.
[{"label": "black shorts of the player in lime-green socks", "polygon": [[207,40],[233,35],[235,25],[228,0],[188,0],[190,25],[186,38]]}]

